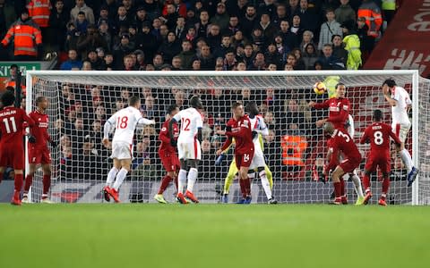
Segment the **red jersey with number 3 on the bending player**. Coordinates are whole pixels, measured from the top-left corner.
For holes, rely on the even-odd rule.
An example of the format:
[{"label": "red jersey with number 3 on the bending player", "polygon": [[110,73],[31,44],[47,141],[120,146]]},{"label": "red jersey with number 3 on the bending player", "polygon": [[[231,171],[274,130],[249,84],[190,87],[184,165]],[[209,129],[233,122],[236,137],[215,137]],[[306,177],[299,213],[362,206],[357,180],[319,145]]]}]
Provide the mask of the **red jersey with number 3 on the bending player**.
[{"label": "red jersey with number 3 on the bending player", "polygon": [[332,151],[331,159],[327,170],[334,169],[339,163],[339,155],[343,154],[344,159],[350,159],[354,162],[361,161],[361,154],[358,151],[354,140],[349,136],[348,132],[342,130],[334,130],[331,135],[329,150]]}]

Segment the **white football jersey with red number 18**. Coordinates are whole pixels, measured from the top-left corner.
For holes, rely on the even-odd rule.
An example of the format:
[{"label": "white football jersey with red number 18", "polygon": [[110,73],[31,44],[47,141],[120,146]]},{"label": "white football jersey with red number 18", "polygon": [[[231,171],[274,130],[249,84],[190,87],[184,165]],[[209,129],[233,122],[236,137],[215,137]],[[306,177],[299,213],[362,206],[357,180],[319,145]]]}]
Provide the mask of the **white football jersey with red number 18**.
[{"label": "white football jersey with red number 18", "polygon": [[114,113],[107,119],[111,125],[115,126],[115,134],[112,142],[126,142],[133,144],[134,130],[137,124],[154,124],[153,120],[142,117],[142,113],[134,107],[126,107]]}]

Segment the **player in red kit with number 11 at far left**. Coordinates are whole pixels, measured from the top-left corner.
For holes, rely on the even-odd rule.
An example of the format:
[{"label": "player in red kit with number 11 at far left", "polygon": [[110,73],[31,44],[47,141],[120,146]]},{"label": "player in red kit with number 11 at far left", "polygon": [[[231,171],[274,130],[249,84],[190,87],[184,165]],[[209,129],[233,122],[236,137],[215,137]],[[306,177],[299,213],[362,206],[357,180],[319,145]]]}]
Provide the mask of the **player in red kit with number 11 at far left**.
[{"label": "player in red kit with number 11 at far left", "polygon": [[[12,198],[12,205],[21,205],[21,189],[23,182],[22,170],[24,169],[24,145],[23,123],[27,122],[32,128],[34,121],[22,109],[13,107],[15,96],[13,92],[4,92],[2,98],[4,109],[0,111],[0,180],[6,167],[13,167],[15,173],[15,187]],[[30,140],[30,138],[29,138]],[[34,138],[31,138],[34,142]]]}]

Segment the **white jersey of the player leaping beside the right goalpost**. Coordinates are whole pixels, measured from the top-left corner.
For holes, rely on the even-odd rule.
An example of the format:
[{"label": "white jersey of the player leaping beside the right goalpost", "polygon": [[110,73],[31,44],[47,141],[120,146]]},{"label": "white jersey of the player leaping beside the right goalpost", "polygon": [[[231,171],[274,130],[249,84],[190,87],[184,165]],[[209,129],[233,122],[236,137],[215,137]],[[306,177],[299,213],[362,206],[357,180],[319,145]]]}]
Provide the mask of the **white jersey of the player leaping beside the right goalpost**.
[{"label": "white jersey of the player leaping beside the right goalpost", "polygon": [[409,93],[405,88],[394,87],[391,90],[391,98],[397,101],[397,105],[391,106],[392,123],[410,124],[408,106],[412,104]]}]

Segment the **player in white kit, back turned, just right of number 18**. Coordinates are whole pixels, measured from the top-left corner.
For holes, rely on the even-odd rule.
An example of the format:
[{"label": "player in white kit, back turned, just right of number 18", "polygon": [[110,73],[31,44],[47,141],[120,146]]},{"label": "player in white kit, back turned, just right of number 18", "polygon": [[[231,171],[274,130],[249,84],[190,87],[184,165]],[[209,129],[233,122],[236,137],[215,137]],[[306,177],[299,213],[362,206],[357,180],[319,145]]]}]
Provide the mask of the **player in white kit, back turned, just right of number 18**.
[{"label": "player in white kit, back turned, just right of number 18", "polygon": [[[177,138],[177,153],[181,169],[177,176],[177,195],[176,201],[181,204],[187,204],[188,200],[193,203],[199,203],[199,200],[193,194],[195,180],[197,180],[197,166],[202,159],[202,114],[198,109],[202,109],[202,100],[199,96],[192,96],[190,99],[190,107],[176,113],[175,116],[168,122],[168,133],[170,136],[170,144],[176,147],[176,138],[174,125],[180,121],[181,130]],[[184,194],[184,187],[186,191]]]}]

